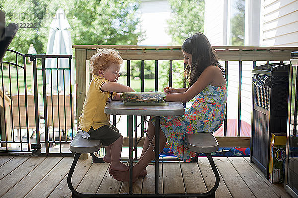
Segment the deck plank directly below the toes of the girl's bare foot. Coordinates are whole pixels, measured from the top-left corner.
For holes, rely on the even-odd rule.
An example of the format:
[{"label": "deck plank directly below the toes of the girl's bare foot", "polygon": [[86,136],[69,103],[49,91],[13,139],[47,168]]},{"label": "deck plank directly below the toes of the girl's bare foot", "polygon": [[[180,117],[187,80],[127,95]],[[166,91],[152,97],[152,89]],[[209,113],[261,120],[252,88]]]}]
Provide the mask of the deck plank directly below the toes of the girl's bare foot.
[{"label": "deck plank directly below the toes of the girl's bare foot", "polygon": [[113,179],[109,175],[109,171],[106,172],[104,178],[99,186],[97,193],[119,193],[122,182]]}]

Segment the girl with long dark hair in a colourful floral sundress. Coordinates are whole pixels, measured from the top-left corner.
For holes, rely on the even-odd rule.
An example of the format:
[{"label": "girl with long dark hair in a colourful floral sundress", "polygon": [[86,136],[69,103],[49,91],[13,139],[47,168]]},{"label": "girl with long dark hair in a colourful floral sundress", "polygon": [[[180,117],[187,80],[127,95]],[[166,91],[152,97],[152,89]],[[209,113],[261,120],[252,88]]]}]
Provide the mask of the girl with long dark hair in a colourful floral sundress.
[{"label": "girl with long dark hair in a colourful floral sundress", "polygon": [[[183,116],[160,117],[160,151],[168,142],[175,156],[183,161],[190,161],[196,153],[184,147],[185,133],[214,132],[224,122],[226,112],[226,80],[224,69],[220,66],[215,51],[203,33],[197,33],[187,38],[182,45],[184,71],[189,81],[188,88],[164,88],[167,101],[188,102],[195,97],[195,101]],[[154,159],[153,147],[149,139],[155,144],[155,118],[148,124],[143,151],[138,163],[133,167],[133,181],[139,176],[146,176],[146,166]],[[110,175],[116,180],[128,181],[128,171],[110,170]]]}]

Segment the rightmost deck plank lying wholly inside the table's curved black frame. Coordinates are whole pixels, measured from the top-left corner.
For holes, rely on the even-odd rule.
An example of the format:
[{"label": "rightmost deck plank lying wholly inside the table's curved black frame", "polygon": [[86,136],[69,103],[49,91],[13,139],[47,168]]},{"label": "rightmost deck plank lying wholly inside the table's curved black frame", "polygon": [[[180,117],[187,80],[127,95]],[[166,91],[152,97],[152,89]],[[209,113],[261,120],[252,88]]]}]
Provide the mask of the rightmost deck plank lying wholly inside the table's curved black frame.
[{"label": "rightmost deck plank lying wholly inside the table's curved black frame", "polygon": [[197,163],[180,163],[186,193],[207,192],[202,174]]}]

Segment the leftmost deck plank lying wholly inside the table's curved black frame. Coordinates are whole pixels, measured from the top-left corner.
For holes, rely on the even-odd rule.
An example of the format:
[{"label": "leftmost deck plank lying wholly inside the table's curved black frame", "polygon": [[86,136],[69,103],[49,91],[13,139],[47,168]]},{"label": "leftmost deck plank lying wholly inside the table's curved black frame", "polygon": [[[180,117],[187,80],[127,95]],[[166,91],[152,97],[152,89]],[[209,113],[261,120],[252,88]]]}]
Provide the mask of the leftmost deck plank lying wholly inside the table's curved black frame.
[{"label": "leftmost deck plank lying wholly inside the table's curved black frame", "polygon": [[76,190],[80,193],[96,193],[108,172],[109,165],[109,163],[93,163]]}]

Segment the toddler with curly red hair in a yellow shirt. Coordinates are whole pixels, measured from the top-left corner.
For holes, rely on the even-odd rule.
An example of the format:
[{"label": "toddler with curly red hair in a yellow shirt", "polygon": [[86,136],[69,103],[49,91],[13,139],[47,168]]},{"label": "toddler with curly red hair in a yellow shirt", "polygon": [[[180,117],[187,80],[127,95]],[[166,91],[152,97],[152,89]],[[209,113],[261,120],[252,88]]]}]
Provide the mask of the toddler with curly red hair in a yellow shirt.
[{"label": "toddler with curly red hair in a yellow shirt", "polygon": [[117,83],[121,63],[123,59],[113,49],[99,49],[90,58],[92,80],[79,117],[79,129],[88,132],[89,139],[101,140],[106,148],[103,160],[111,163],[111,169],[126,171],[127,166],[120,162],[123,136],[115,126],[109,124],[110,115],[104,113],[108,102],[112,99],[121,100],[119,93],[134,92],[132,88]]}]

